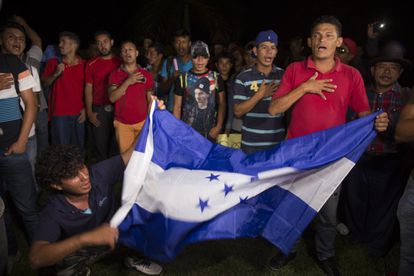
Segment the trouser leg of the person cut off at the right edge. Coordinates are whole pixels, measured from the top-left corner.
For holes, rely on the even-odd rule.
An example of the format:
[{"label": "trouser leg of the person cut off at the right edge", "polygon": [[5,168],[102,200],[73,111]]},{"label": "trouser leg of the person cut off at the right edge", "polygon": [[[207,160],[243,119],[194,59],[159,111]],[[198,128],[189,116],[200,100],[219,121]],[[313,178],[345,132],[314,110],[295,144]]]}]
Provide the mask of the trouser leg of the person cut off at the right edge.
[{"label": "trouser leg of the person cut off at the right edge", "polygon": [[399,276],[414,275],[414,179],[408,179],[398,210],[400,221],[401,249]]}]

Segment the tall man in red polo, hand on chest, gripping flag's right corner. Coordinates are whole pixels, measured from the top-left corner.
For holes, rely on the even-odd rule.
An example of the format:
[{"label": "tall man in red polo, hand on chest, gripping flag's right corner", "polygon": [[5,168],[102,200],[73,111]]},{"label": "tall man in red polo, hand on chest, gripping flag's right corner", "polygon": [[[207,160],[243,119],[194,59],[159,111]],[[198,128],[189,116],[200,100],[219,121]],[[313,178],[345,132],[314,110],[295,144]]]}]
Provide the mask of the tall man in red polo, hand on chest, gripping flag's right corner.
[{"label": "tall man in red polo, hand on chest, gripping flag's right corner", "polygon": [[[292,63],[286,69],[268,111],[276,115],[292,107],[288,138],[342,125],[346,122],[348,108],[359,117],[370,113],[360,73],[335,57],[336,48],[341,46],[343,40],[341,32],[342,24],[337,18],[317,18],[308,38],[312,55],[307,60]],[[375,129],[385,131],[387,126],[387,114],[378,115]],[[339,275],[334,261],[339,193],[340,186],[319,211],[316,220],[316,257],[327,275]],[[279,269],[295,254],[280,254],[271,260],[270,266]]]}]

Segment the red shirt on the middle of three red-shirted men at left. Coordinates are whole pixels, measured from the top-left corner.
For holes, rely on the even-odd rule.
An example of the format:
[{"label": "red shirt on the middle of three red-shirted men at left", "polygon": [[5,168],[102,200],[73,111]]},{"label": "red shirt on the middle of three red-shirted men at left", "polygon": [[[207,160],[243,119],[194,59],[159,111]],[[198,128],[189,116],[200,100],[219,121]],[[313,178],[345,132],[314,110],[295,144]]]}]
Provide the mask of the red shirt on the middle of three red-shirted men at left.
[{"label": "red shirt on the middle of three red-shirted men at left", "polygon": [[85,82],[92,84],[93,104],[107,105],[111,104],[108,98],[108,78],[109,74],[121,65],[118,57],[103,59],[97,57],[90,60],[85,68]]}]

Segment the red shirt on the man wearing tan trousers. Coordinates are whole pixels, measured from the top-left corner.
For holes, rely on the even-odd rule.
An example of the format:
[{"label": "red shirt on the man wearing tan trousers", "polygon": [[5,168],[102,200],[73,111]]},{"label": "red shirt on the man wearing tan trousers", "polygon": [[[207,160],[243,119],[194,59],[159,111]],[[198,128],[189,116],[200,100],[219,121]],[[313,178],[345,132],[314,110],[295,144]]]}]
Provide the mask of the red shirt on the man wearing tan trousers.
[{"label": "red shirt on the man wearing tan trousers", "polygon": [[[115,102],[115,120],[124,124],[136,124],[145,120],[147,116],[147,92],[154,90],[154,81],[151,73],[138,69],[145,77],[145,82],[128,86],[125,95]],[[109,76],[109,85],[120,86],[128,78],[128,73],[121,68],[116,69]]]}]

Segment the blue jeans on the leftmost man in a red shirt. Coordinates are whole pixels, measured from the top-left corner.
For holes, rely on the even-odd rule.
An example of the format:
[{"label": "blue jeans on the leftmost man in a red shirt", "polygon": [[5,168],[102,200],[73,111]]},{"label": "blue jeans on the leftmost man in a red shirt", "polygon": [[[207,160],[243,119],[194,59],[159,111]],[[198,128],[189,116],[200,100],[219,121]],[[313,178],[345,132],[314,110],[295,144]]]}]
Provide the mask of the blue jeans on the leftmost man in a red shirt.
[{"label": "blue jeans on the leftmost man in a red shirt", "polygon": [[83,152],[85,123],[78,123],[79,115],[54,116],[51,122],[52,144],[76,145]]}]

